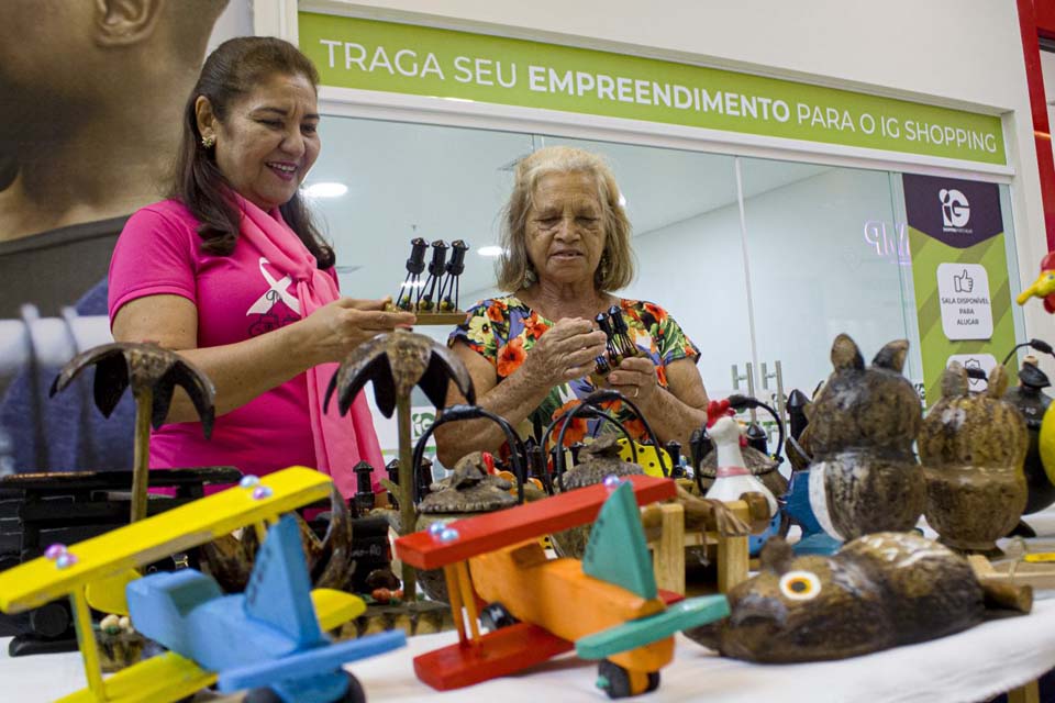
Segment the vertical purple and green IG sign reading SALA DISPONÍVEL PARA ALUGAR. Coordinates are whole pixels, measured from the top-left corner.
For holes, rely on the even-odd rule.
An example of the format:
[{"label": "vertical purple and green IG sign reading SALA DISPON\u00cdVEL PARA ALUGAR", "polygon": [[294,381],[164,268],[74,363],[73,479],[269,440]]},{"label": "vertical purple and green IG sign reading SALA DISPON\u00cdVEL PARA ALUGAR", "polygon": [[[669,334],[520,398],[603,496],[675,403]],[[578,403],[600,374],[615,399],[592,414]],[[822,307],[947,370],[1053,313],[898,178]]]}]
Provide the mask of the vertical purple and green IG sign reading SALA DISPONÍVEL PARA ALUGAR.
[{"label": "vertical purple and green IG sign reading SALA DISPON\u00cdVEL PARA ALUGAR", "polygon": [[[933,405],[952,361],[988,376],[1015,343],[1000,190],[911,174],[902,182],[924,399]],[[970,384],[981,390],[986,382]]]}]

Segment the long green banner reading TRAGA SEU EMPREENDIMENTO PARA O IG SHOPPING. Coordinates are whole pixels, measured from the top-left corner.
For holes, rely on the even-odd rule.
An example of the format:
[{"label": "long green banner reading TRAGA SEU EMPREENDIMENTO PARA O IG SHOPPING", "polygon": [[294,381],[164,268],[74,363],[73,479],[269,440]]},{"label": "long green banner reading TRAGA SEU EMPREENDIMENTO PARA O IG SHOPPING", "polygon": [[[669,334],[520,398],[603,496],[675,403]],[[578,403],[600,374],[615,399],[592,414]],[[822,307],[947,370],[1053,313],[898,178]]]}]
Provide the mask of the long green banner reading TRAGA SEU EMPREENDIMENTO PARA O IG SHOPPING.
[{"label": "long green banner reading TRAGA SEU EMPREENDIMENTO PARA O IG SHOPPING", "polygon": [[455,98],[1007,164],[1000,118],[542,42],[299,13],[301,49],[338,88]]}]

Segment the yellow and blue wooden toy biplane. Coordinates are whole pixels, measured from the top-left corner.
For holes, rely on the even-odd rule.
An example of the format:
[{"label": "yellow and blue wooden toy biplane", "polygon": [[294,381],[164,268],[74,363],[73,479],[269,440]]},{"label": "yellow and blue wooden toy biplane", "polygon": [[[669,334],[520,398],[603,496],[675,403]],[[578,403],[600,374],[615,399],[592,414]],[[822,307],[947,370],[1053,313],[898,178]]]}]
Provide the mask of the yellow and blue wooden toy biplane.
[{"label": "yellow and blue wooden toy biplane", "polygon": [[[342,591],[309,592],[299,529],[291,517],[280,517],[327,496],[330,483],[301,467],[247,477],[70,547],[53,545],[45,556],[0,573],[0,610],[15,613],[69,596],[88,688],[65,703],[176,701],[218,682],[221,691],[266,687],[268,700],[287,703],[362,701],[362,689],[341,665],[400,647],[403,634],[331,645],[322,633],[358,616],[365,604]],[[263,546],[244,595],[223,595],[193,569],[143,578],[135,571],[249,525]],[[103,680],[89,603],[131,612],[133,625],[170,651]]]}]

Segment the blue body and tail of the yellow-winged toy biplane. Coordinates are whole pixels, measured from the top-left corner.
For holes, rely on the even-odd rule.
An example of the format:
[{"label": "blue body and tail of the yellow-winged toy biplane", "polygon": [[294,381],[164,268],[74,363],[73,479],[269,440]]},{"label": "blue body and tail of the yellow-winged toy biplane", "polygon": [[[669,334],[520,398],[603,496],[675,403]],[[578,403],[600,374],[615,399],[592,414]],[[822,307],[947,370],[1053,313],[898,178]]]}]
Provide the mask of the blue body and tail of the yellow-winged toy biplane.
[{"label": "blue body and tail of the yellow-winged toy biplane", "polygon": [[[268,529],[245,593],[224,595],[195,569],[129,583],[135,627],[166,648],[219,672],[221,692],[267,688],[286,703],[360,702],[358,681],[341,665],[406,645],[402,632],[331,644],[311,604],[297,522]],[[262,700],[268,695],[260,692]]]}]

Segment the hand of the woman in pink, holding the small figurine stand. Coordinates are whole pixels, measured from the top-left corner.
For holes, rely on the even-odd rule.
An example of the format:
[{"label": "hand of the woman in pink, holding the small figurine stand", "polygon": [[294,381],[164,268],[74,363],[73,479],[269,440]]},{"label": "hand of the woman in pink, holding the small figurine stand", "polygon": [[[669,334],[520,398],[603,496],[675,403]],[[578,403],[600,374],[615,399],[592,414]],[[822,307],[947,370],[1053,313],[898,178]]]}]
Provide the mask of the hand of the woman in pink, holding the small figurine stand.
[{"label": "hand of the woman in pink, holding the small figurine stand", "polygon": [[341,361],[355,347],[382,332],[409,327],[417,317],[409,312],[386,312],[389,299],[356,300],[341,298],[298,324],[308,337],[311,365]]}]

